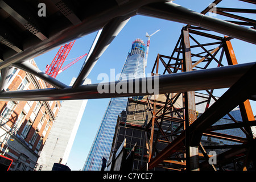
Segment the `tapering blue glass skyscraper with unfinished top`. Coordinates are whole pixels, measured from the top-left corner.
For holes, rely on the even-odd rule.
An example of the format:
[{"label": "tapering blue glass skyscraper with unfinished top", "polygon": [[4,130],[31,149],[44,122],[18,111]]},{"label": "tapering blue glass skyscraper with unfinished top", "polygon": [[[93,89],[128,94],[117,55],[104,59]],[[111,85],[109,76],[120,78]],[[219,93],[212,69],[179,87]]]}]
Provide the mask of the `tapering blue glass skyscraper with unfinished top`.
[{"label": "tapering blue glass skyscraper with unfinished top", "polygon": [[[127,56],[125,64],[123,65],[119,80],[144,77],[145,49],[146,46],[141,39],[136,39],[132,43],[131,51]],[[102,158],[104,157],[107,160],[109,159],[117,117],[123,110],[126,110],[127,99],[127,97],[110,99],[84,164],[84,171],[100,171],[102,166]]]}]

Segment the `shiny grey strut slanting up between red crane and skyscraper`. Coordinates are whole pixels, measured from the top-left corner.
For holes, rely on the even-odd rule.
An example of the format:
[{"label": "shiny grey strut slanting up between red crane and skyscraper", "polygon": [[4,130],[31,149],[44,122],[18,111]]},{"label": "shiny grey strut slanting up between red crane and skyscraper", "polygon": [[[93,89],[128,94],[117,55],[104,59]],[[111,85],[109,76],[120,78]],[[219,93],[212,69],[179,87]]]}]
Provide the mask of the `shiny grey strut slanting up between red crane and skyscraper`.
[{"label": "shiny grey strut slanting up between red crane and skyscraper", "polygon": [[97,40],[96,46],[93,48],[92,53],[89,55],[88,60],[84,67],[82,68],[79,76],[77,76],[76,81],[73,84],[73,88],[82,85],[86,77],[89,75],[92,68],[97,63],[98,59],[101,57],[102,53],[108,48],[110,43],[122,30],[125,24],[130,18],[119,16],[110,20],[101,31],[100,37]]}]

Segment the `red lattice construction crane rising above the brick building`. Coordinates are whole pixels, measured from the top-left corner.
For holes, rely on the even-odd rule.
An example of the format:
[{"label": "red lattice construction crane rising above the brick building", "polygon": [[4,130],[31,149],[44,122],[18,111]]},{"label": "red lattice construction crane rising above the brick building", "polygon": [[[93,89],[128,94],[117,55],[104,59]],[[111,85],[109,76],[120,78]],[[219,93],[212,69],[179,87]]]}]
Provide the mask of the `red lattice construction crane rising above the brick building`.
[{"label": "red lattice construction crane rising above the brick building", "polygon": [[54,59],[52,60],[52,63],[50,65],[46,65],[46,74],[56,78],[56,76],[60,73],[63,72],[65,69],[67,69],[68,67],[70,67],[71,65],[75,64],[77,61],[79,61],[80,59],[82,59],[82,57],[86,56],[87,53],[85,55],[82,55],[80,57],[78,57],[76,60],[72,61],[72,63],[69,63],[67,66],[65,66],[64,68],[61,68],[66,57],[68,56],[69,51],[71,50],[73,44],[75,43],[76,40],[74,40],[73,42],[67,43],[64,46],[61,46],[59,51],[57,52],[56,56],[54,57]]}]

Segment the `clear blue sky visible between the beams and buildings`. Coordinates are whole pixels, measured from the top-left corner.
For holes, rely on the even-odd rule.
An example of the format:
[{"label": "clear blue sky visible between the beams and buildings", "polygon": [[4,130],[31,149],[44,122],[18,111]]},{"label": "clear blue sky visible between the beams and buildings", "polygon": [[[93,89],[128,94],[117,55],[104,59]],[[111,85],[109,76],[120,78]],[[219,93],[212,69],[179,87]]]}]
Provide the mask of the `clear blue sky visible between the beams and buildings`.
[{"label": "clear blue sky visible between the beams and buildings", "polygon": [[[212,2],[213,0],[174,1],[174,3],[177,3],[184,7],[188,7],[189,9],[195,10],[197,12],[204,10],[205,7],[207,7]],[[217,7],[229,7],[230,4],[234,8],[256,8],[255,5],[248,5],[248,3],[234,0],[224,0]],[[247,17],[255,19],[253,15]],[[222,16],[217,15],[216,18],[222,19]],[[171,55],[171,52],[175,47],[177,39],[180,36],[180,30],[183,27],[183,25],[184,24],[181,23],[170,22],[167,20],[150,18],[146,16],[137,15],[132,17],[126,24],[126,26],[123,28],[123,30],[113,40],[112,44],[110,44],[108,49],[106,49],[101,58],[98,60],[98,63],[95,65],[88,78],[90,78],[92,80],[92,83],[95,84],[97,82],[100,82],[99,80],[97,80],[97,76],[100,73],[106,73],[110,75],[110,69],[113,68],[115,69],[115,75],[117,75],[117,73],[120,73],[123,64],[125,63],[127,53],[131,49],[131,43],[136,38],[141,38],[144,40],[144,43],[146,43],[146,32],[148,32],[148,34],[152,34],[156,30],[160,29],[160,31],[151,38],[146,68],[146,73],[150,73],[152,65],[154,64],[154,61],[158,53],[167,56]],[[69,55],[66,59],[67,61],[64,63],[63,66],[69,64],[72,61],[69,59],[79,57],[84,53],[88,53],[90,46],[92,45],[92,42],[94,40],[94,37],[96,36],[96,33],[97,32],[94,32],[92,34],[84,36],[81,39],[77,39],[71,51],[69,52]],[[232,46],[234,48],[234,52],[236,53],[238,63],[249,63],[256,61],[255,45],[242,42],[241,40],[233,39]],[[44,55],[35,57],[36,64],[42,71],[46,68],[47,64],[51,64],[51,61],[55,57],[58,50],[59,47],[45,53]],[[83,61],[84,59],[80,60],[76,64],[66,69],[64,72],[60,73],[56,77],[56,79],[69,85],[69,82],[71,81],[72,77],[77,77]],[[72,170],[79,170],[82,169],[82,167],[84,166],[86,157],[89,153],[90,147],[97,133],[98,126],[100,125],[101,119],[104,115],[108,102],[109,98],[88,100],[88,104],[86,105],[85,112],[82,117],[79,130],[77,131],[77,135],[75,138],[75,142],[73,143],[71,154],[69,155],[68,159],[67,165]],[[255,115],[255,103],[251,104],[253,104],[253,110]]]}]

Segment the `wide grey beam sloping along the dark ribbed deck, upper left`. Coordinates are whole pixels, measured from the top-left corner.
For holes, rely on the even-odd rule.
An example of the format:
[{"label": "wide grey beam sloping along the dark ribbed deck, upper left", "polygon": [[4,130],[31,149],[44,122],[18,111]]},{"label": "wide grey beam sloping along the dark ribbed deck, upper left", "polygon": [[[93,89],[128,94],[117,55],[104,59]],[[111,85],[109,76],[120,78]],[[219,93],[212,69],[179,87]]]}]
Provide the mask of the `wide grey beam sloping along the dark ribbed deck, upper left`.
[{"label": "wide grey beam sloping along the dark ribbed deck, upper left", "polygon": [[[3,52],[2,56],[4,61],[0,64],[0,69],[8,67],[16,62],[30,60],[60,46],[61,44],[71,42],[72,40],[79,39],[82,36],[98,31],[104,27],[106,23],[118,16],[134,16],[139,7],[152,2],[166,2],[166,0],[131,0],[120,6],[106,8],[98,14],[92,13],[91,15],[86,15],[85,18],[82,19],[82,23],[77,24],[76,26],[73,26],[69,21],[66,23],[63,19],[60,19],[54,26],[47,30],[48,39],[42,41],[32,36],[26,39],[26,42],[23,43],[22,53],[17,54],[10,51]],[[93,12],[96,8],[97,7],[90,7],[90,10],[88,11]]]}]

